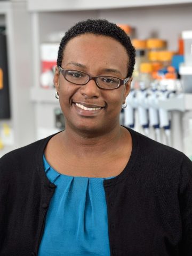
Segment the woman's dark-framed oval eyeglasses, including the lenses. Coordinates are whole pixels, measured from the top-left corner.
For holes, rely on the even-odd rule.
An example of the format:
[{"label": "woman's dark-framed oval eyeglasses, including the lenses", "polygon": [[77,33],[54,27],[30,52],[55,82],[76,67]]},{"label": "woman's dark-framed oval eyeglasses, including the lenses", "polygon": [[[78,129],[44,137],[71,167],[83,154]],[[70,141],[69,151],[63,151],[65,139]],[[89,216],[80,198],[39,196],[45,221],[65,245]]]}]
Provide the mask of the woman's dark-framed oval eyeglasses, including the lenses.
[{"label": "woman's dark-framed oval eyeglasses, including the lenses", "polygon": [[120,86],[126,84],[129,81],[129,77],[125,79],[117,78],[117,77],[108,77],[108,76],[97,76],[92,77],[89,74],[77,71],[77,70],[68,70],[62,69],[59,66],[59,71],[63,75],[63,77],[72,84],[75,85],[86,85],[90,80],[94,80],[95,84],[101,89],[117,89]]}]

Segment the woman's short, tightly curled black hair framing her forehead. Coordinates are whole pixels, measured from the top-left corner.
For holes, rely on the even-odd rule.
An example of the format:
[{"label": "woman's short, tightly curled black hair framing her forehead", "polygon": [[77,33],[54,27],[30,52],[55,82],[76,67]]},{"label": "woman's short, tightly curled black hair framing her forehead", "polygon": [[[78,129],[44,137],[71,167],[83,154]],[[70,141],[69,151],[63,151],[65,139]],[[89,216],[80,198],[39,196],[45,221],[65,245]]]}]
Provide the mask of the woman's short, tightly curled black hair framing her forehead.
[{"label": "woman's short, tightly curled black hair framing her forehead", "polygon": [[69,42],[69,40],[82,34],[110,36],[121,43],[129,56],[127,77],[132,76],[135,64],[135,48],[132,46],[130,37],[123,31],[122,28],[105,19],[87,19],[85,21],[80,21],[71,27],[61,39],[57,58],[58,66],[61,66],[63,51],[66,44]]}]

